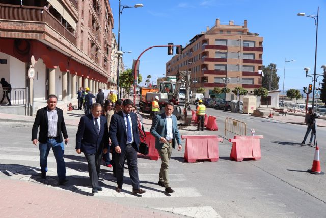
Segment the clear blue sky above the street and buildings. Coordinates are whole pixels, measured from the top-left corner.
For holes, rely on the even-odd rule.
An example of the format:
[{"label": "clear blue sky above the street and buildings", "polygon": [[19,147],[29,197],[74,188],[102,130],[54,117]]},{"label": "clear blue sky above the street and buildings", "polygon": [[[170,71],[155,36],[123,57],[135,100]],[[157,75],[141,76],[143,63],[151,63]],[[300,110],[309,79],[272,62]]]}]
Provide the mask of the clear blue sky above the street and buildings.
[{"label": "clear blue sky above the street and buildings", "polygon": [[[263,37],[263,65],[277,65],[280,77],[279,89],[283,86],[284,61],[286,63],[284,89],[302,89],[312,83],[305,77],[305,67],[314,71],[316,26],[313,18],[297,16],[297,13],[317,15],[318,47],[316,73],[326,64],[326,1],[324,0],[121,0],[121,5],[142,8],[125,8],[120,18],[120,50],[132,51],[123,55],[126,68],[132,68],[132,60],[148,47],[174,43],[189,44],[196,34],[214,26],[215,20],[222,24],[233,20],[242,25],[247,20],[249,32]],[[114,29],[118,39],[119,0],[110,0]],[[121,49],[122,48],[122,49]],[[174,49],[175,54],[175,49]],[[173,56],[166,47],[148,50],[140,58],[140,74],[144,85],[147,75],[151,81],[165,75],[166,63]],[[318,78],[316,87],[322,77]]]}]

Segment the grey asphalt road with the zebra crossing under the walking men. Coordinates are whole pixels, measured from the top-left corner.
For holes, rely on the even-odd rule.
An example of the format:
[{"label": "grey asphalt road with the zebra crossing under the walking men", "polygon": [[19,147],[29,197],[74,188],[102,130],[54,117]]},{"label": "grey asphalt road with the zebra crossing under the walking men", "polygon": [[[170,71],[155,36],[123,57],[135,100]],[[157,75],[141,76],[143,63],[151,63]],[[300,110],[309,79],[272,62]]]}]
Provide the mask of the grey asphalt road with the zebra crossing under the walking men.
[{"label": "grey asphalt road with the zebra crossing under the walking men", "polygon": [[[194,108],[194,106],[192,106]],[[326,176],[306,172],[311,168],[315,149],[300,146],[305,126],[274,122],[264,118],[207,109],[209,115],[218,117],[218,134],[224,138],[225,117],[246,122],[248,130],[255,128],[261,139],[260,161],[231,161],[231,143],[226,139],[219,143],[218,162],[184,163],[184,150],[172,153],[170,162],[171,187],[176,190],[171,196],[164,188],[156,185],[160,160],[139,158],[139,174],[146,195],[134,198],[130,195],[130,180],[125,169],[125,191],[117,194],[112,169],[101,167],[103,191],[94,198],[114,201],[126,205],[137,205],[191,217],[325,217]],[[56,186],[56,164],[53,154],[49,155],[50,179],[32,181],[30,174],[37,175],[38,148],[30,141],[31,124],[0,122],[1,177],[11,176],[29,182],[48,183]],[[70,180],[64,189],[82,195],[90,192],[85,157],[74,150],[77,127],[67,127],[70,143],[65,151],[67,175]],[[190,132],[189,134],[196,134]],[[325,129],[317,129],[321,168],[326,171]]]}]

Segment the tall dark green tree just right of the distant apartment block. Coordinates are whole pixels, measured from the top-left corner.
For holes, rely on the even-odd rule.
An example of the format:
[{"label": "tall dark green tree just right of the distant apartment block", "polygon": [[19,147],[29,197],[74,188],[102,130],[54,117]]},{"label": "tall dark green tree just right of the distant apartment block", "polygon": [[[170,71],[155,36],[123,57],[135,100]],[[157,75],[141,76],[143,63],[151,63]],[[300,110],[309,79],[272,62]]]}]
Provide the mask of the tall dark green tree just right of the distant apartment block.
[{"label": "tall dark green tree just right of the distant apartment block", "polygon": [[[278,90],[280,77],[277,76],[276,64],[270,63],[267,67],[263,65],[262,70],[264,72],[264,76],[261,80],[262,87],[266,88],[269,91]],[[271,89],[270,89],[270,81],[271,81]]]}]

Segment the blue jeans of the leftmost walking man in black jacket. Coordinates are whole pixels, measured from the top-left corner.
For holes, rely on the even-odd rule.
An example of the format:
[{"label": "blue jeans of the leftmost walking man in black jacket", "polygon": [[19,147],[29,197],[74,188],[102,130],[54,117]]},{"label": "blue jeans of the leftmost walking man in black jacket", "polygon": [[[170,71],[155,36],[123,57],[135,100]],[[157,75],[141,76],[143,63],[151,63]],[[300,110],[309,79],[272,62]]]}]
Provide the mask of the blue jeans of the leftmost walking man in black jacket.
[{"label": "blue jeans of the leftmost walking man in black jacket", "polygon": [[47,172],[47,156],[49,155],[51,148],[53,153],[55,154],[57,162],[57,174],[59,177],[59,181],[63,181],[66,179],[66,165],[65,160],[63,159],[65,147],[63,142],[58,142],[54,138],[48,139],[46,144],[39,144],[41,172]]}]

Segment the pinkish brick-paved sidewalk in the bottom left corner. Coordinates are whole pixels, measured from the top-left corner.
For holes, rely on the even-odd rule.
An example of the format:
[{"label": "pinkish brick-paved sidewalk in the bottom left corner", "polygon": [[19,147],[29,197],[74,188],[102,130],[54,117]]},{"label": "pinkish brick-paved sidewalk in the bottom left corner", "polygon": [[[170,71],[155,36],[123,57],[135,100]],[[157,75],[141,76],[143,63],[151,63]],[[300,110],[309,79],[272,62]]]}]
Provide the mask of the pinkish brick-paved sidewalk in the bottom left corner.
[{"label": "pinkish brick-paved sidewalk in the bottom left corner", "polygon": [[180,217],[164,211],[121,205],[110,200],[15,179],[0,178],[0,192],[2,218]]}]

